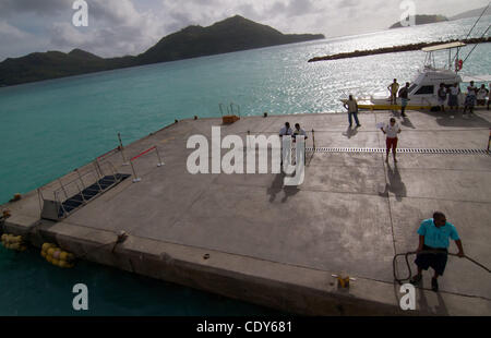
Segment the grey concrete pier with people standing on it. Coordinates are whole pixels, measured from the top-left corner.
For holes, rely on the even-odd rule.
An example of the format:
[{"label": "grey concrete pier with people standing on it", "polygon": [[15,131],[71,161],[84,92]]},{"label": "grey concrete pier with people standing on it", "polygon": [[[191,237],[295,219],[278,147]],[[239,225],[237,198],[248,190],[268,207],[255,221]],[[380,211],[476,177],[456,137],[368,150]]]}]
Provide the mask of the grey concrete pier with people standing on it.
[{"label": "grey concrete pier with people standing on it", "polygon": [[[347,129],[347,114],[248,117],[179,121],[125,147],[125,157],[157,146],[134,164],[141,182],[127,179],[60,221],[40,220],[36,191],[3,205],[9,233],[37,246],[56,242],[80,257],[233,299],[309,315],[491,315],[490,274],[450,257],[439,293],[432,271],[417,289],[417,311],[399,309],[393,257],[415,251],[422,219],[446,214],[465,253],[491,266],[491,157],[478,154],[402,153],[398,164],[383,153],[307,153],[303,184],[284,186],[283,174],[190,174],[191,135],[276,134],[285,121],[309,132],[307,146],[384,148],[376,129],[392,112],[360,113],[361,128]],[[409,111],[400,148],[486,149],[491,113]],[[246,144],[246,142],[244,142]],[[223,150],[225,154],[226,150]],[[119,173],[132,174],[119,152],[108,155]],[[89,164],[80,168],[87,172]],[[76,179],[71,172],[62,182]],[[58,189],[58,181],[43,191]],[[117,244],[120,231],[128,239]],[[456,252],[451,243],[451,252]],[[414,256],[410,257],[411,268]],[[407,275],[403,259],[397,274]],[[333,274],[355,278],[338,289]]]}]

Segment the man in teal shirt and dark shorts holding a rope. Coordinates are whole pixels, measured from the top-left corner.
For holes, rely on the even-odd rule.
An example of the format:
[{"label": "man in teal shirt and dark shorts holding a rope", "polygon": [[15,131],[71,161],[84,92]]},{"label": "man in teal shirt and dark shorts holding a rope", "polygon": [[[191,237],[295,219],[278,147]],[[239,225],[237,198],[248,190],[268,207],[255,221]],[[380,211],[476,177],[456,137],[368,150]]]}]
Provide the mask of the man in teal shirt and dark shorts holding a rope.
[{"label": "man in teal shirt and dark shorts holding a rope", "polygon": [[[418,229],[419,246],[416,256],[416,265],[418,266],[418,275],[411,278],[411,283],[418,283],[422,278],[422,270],[432,267],[434,276],[431,279],[431,289],[439,290],[438,278],[443,276],[446,266],[450,241],[455,241],[458,248],[458,256],[464,257],[464,249],[460,238],[454,225],[446,221],[443,213],[435,212],[433,218],[426,219]],[[433,251],[434,253],[421,253],[421,251]]]}]

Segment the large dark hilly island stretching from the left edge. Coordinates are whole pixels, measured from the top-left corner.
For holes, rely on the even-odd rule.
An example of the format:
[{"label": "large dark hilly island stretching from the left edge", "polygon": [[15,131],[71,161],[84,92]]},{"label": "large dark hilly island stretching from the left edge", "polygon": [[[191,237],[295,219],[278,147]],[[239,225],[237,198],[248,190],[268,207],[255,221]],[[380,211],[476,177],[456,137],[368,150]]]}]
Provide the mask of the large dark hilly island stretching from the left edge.
[{"label": "large dark hilly island stretching from the left edge", "polygon": [[105,59],[73,49],[9,58],[0,63],[0,86],[323,38],[322,34],[283,34],[236,15],[208,27],[189,26],[170,34],[136,57]]}]

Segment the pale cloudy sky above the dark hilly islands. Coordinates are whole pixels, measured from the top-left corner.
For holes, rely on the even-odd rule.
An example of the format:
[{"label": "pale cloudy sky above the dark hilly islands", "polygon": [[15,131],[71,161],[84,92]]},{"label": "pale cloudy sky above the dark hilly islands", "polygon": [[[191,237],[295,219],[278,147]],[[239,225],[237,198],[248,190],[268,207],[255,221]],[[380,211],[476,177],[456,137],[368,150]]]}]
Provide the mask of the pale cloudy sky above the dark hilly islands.
[{"label": "pale cloudy sky above the dark hilly islands", "polygon": [[0,61],[34,51],[81,48],[101,57],[139,55],[188,25],[236,14],[283,33],[337,37],[387,28],[403,2],[417,14],[453,16],[489,0],[85,0],[88,26],[72,23],[75,0],[0,0]]}]

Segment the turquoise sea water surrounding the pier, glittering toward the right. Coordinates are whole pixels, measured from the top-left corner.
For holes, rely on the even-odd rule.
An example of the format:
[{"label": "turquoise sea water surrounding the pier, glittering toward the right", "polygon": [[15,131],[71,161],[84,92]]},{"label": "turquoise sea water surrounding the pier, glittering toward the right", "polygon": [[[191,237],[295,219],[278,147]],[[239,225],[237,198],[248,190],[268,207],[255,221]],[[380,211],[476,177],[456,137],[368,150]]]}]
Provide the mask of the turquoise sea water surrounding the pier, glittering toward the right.
[{"label": "turquoise sea water surrounding the pier, glittering toward the right", "polygon": [[[233,102],[242,116],[267,111],[342,111],[338,98],[411,81],[421,51],[308,63],[310,58],[402,44],[464,38],[475,19],[248,50],[0,88],[0,203],[128,144],[175,119],[219,117]],[[491,24],[486,16],[471,37]],[[490,34],[488,33],[488,36]],[[467,56],[472,46],[463,49]],[[446,53],[436,57],[443,64]],[[465,74],[491,72],[491,44],[479,45]],[[80,315],[71,289],[89,289],[85,315],[250,315],[272,310],[81,262],[61,270],[38,252],[0,248],[0,315]]]}]

